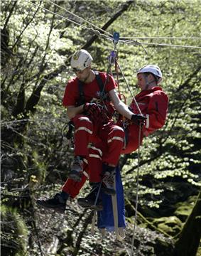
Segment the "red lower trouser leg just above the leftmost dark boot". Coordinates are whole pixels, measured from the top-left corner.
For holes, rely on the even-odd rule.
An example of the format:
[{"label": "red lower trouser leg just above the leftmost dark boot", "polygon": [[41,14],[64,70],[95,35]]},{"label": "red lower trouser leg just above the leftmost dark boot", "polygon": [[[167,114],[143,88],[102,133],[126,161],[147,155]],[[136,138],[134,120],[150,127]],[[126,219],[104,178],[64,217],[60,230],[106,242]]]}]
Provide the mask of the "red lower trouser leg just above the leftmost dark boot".
[{"label": "red lower trouser leg just above the leftmost dark boot", "polygon": [[[84,172],[88,173],[88,165],[85,164]],[[72,198],[75,198],[80,193],[80,189],[84,186],[85,181],[87,180],[87,176],[82,174],[82,181],[73,181],[71,178],[67,178],[65,184],[63,185],[62,191],[68,193]]]}]

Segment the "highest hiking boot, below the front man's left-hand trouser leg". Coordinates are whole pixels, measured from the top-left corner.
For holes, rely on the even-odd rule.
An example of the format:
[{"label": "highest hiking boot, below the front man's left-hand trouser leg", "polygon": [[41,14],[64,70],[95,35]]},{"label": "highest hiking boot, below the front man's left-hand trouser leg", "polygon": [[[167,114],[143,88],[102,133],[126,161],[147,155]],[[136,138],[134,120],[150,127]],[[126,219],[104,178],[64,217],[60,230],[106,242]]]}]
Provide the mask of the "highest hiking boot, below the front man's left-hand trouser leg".
[{"label": "highest hiking boot, below the front man's left-hand trouser leg", "polygon": [[69,174],[69,178],[73,181],[82,181],[82,173],[83,173],[83,161],[79,156],[76,156],[74,161],[72,162],[71,171]]}]

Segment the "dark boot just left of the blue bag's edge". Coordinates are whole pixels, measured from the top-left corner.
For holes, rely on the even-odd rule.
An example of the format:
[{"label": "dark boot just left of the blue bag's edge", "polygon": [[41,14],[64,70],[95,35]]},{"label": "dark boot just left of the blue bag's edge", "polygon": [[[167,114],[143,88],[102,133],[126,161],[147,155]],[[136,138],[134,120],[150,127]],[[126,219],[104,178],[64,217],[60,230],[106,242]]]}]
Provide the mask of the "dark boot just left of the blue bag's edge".
[{"label": "dark boot just left of the blue bag's edge", "polygon": [[[77,203],[79,204],[79,206],[82,206],[82,208],[91,208],[93,210],[103,210],[102,199],[100,198],[98,193],[99,193],[99,186],[92,188],[89,195],[86,196],[85,198],[78,198]],[[98,195],[98,198],[97,198],[97,195]]]}]

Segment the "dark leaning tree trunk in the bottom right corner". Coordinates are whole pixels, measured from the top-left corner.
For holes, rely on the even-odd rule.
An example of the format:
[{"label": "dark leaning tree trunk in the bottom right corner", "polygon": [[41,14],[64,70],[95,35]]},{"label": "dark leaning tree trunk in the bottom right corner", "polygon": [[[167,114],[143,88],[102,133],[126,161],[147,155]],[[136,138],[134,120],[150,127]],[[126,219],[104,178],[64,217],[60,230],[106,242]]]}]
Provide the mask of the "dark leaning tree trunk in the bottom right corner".
[{"label": "dark leaning tree trunk in the bottom right corner", "polygon": [[186,220],[180,232],[178,240],[175,242],[174,256],[195,256],[200,245],[201,238],[201,191],[197,196],[197,201],[192,213]]}]

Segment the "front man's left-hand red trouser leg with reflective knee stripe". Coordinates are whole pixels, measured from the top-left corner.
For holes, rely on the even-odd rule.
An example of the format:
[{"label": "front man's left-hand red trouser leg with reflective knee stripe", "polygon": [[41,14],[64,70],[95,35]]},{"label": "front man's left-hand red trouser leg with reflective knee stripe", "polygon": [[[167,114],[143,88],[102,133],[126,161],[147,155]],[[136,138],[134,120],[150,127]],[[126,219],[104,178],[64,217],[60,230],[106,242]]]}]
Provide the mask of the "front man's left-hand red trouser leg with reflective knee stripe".
[{"label": "front man's left-hand red trouser leg with reflective knee stripe", "polygon": [[89,117],[77,114],[73,118],[75,125],[75,156],[88,156],[89,138],[93,133],[93,124]]}]

